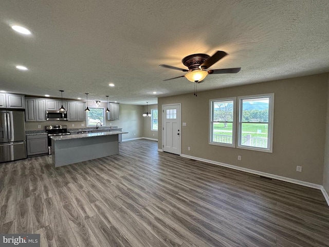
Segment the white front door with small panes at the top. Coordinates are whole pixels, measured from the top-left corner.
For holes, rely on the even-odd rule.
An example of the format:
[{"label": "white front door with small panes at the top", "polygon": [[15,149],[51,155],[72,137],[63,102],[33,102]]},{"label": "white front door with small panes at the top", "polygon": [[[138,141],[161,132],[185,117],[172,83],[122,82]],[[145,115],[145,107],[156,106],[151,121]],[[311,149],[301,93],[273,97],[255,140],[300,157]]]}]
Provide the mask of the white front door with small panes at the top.
[{"label": "white front door with small panes at the top", "polygon": [[180,155],[180,104],[162,105],[162,148]]}]

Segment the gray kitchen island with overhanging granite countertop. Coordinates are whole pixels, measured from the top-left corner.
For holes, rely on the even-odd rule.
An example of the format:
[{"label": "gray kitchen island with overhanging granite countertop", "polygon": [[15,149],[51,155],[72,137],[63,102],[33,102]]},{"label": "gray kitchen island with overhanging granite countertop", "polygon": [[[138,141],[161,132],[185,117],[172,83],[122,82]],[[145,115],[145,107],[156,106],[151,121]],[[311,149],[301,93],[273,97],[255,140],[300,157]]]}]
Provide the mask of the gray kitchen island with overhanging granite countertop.
[{"label": "gray kitchen island with overhanging granite countertop", "polygon": [[52,164],[59,167],[118,154],[118,136],[125,133],[128,132],[52,136]]}]

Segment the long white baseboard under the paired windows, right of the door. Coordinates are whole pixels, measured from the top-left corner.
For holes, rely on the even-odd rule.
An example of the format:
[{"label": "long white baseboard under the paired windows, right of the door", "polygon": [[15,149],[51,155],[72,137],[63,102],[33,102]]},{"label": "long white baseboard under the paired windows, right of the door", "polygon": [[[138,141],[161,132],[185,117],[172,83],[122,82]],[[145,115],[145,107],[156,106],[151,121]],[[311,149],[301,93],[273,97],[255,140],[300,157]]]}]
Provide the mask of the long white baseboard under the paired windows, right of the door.
[{"label": "long white baseboard under the paired windows, right of the door", "polygon": [[300,181],[300,180],[296,180],[296,179],[281,177],[281,176],[274,175],[274,174],[271,174],[271,173],[266,173],[266,172],[251,170],[251,169],[243,168],[243,167],[239,167],[239,166],[233,166],[233,165],[229,165],[229,164],[225,164],[225,163],[221,163],[221,162],[206,160],[205,158],[199,158],[199,157],[194,157],[194,156],[185,155],[185,154],[181,154],[180,156],[186,157],[186,158],[191,158],[192,160],[197,160],[197,161],[202,161],[202,162],[218,165],[218,166],[228,167],[228,168],[231,168],[231,169],[234,169],[234,170],[245,171],[245,172],[248,172],[248,173],[261,175],[261,176],[271,178],[271,179],[277,179],[277,180],[281,180],[281,181],[285,181],[285,182],[289,182],[289,183],[293,183],[293,184],[299,184],[299,185],[303,185],[303,186],[310,187],[310,188],[315,188],[315,189],[321,189],[321,190],[323,189],[323,186],[319,185],[319,184],[308,183],[308,182],[304,182],[304,181]]}]

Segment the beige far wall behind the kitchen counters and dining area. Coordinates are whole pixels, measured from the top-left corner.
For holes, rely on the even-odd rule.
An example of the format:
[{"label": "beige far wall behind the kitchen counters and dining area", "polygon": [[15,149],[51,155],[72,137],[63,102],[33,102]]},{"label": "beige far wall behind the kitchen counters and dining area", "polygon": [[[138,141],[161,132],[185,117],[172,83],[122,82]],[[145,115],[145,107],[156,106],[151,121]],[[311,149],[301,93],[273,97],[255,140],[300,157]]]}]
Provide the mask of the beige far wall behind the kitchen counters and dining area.
[{"label": "beige far wall behind the kitchen counters and dining area", "polygon": [[[95,101],[88,101],[91,107]],[[102,102],[101,107],[106,107],[106,102]],[[132,139],[143,136],[143,107],[141,105],[120,104],[120,119],[106,120],[106,126],[118,126],[122,131],[129,132],[122,134],[122,139]],[[81,126],[83,124],[84,126]],[[111,125],[112,124],[112,125]],[[41,129],[38,129],[41,125]],[[26,130],[45,130],[47,125],[67,125],[68,129],[83,129],[86,127],[86,121],[41,121],[41,122],[25,122]],[[74,126],[72,126],[74,125]]]}]

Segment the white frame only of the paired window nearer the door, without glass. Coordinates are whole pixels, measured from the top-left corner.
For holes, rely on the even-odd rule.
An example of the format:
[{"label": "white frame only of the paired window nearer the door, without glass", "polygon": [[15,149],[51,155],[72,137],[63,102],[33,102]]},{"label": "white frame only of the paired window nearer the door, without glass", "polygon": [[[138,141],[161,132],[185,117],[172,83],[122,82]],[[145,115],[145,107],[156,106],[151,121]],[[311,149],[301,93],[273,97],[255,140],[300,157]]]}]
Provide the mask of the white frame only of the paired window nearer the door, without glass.
[{"label": "white frame only of the paired window nearer the door, without glass", "polygon": [[[217,143],[212,141],[213,136],[213,105],[215,102],[218,101],[233,101],[233,121],[232,121],[232,144],[228,143]],[[235,148],[235,140],[236,140],[236,97],[229,97],[229,98],[220,98],[220,99],[210,99],[209,100],[209,109],[210,109],[210,126],[209,126],[209,144],[216,145],[216,146],[225,146],[225,147],[232,147]],[[217,121],[216,121],[217,122]],[[223,121],[220,121],[223,122]]]}]

